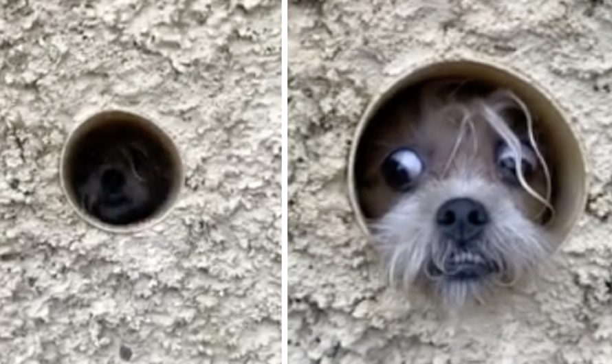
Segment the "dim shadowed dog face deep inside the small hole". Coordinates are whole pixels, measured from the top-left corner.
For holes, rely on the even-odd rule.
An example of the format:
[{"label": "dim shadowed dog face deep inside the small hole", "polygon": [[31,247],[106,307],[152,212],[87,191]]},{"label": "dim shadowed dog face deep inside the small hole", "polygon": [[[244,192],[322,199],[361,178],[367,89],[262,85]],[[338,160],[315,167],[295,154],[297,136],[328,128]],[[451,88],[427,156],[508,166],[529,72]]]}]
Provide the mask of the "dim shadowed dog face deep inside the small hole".
[{"label": "dim shadowed dog face deep inside the small hole", "polygon": [[80,206],[113,225],[148,217],[167,194],[168,185],[155,151],[136,138],[100,140],[83,147],[75,163]]}]

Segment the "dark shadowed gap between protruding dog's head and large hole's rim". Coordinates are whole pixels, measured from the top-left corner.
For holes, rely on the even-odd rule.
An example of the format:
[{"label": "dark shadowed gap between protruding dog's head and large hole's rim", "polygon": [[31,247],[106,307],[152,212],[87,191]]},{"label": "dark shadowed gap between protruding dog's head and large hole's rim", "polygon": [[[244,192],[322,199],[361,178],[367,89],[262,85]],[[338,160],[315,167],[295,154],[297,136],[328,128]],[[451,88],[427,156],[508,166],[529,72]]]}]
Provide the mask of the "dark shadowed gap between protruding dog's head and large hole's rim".
[{"label": "dark shadowed gap between protruding dog's head and large hole's rim", "polygon": [[[406,100],[418,100],[418,97],[421,94],[424,86],[427,83],[434,81],[444,81],[448,82],[449,84],[455,85],[452,87],[456,87],[456,84],[460,83],[464,95],[485,95],[494,91],[495,89],[506,87],[504,84],[493,84],[485,80],[477,80],[474,78],[467,79],[461,77],[432,77],[426,78],[426,80],[416,82],[414,84],[408,85],[407,87],[404,87],[403,89],[397,90],[393,95],[391,95],[388,100],[386,100],[386,102],[384,102],[384,104],[382,104],[382,106],[380,106],[378,111],[376,111],[375,115],[373,115],[373,117],[369,121],[368,125],[366,126],[364,132],[360,137],[360,140],[358,141],[356,164],[355,166],[353,166],[353,168],[355,168],[356,185],[358,189],[369,183],[369,181],[364,178],[365,172],[363,163],[367,154],[370,152],[370,148],[372,145],[367,140],[369,135],[376,135],[377,130],[380,130],[380,128],[385,128],[385,121],[390,120],[393,117],[393,112],[395,111],[395,109],[397,109],[398,105],[406,102]],[[518,96],[521,97],[521,95]],[[527,104],[527,107],[529,107],[529,104]],[[559,190],[557,185],[558,179],[556,178],[558,168],[556,168],[555,166],[558,161],[554,159],[554,148],[556,148],[557,146],[554,146],[552,140],[547,137],[548,133],[546,133],[546,126],[538,123],[538,114],[536,113],[536,110],[529,109],[529,111],[532,113],[532,120],[534,120],[534,130],[536,133],[536,140],[538,146],[540,147],[540,151],[543,153],[543,157],[547,161],[550,169],[552,180],[551,203],[552,205],[555,205],[558,198]],[[521,111],[515,112],[522,115]],[[512,117],[513,115],[509,116]],[[517,115],[514,115],[514,117],[517,117]],[[518,126],[518,130],[516,131],[521,131],[521,126]],[[367,209],[367,206],[365,206],[362,201],[360,201],[360,205],[362,207],[362,212],[364,213],[364,216],[366,216],[367,218],[372,218],[369,210]],[[551,217],[552,214],[547,209],[545,213],[540,216],[539,223],[544,225],[551,219]]]}]

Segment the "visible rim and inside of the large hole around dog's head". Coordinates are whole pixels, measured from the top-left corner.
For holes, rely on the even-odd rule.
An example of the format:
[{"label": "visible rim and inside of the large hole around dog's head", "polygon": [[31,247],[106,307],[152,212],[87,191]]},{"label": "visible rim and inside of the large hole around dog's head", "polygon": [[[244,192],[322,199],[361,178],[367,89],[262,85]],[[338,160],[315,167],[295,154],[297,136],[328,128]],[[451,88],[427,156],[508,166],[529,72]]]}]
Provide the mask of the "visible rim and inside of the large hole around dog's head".
[{"label": "visible rim and inside of the large hole around dog's head", "polygon": [[369,183],[364,182],[365,179],[362,178],[362,166],[366,163],[364,158],[367,158],[364,155],[369,152],[369,148],[364,146],[369,144],[371,138],[380,137],[380,134],[377,135],[373,130],[384,128],[386,119],[391,116],[390,110],[393,105],[397,105],[399,98],[410,99],[411,91],[420,89],[428,82],[444,80],[469,80],[488,90],[507,89],[525,103],[536,128],[540,131],[540,140],[546,148],[547,163],[551,167],[550,201],[555,214],[548,215],[543,223],[554,240],[558,243],[565,240],[582,214],[587,191],[586,163],[582,148],[567,117],[556,101],[536,82],[499,65],[465,59],[429,62],[408,70],[375,95],[362,115],[351,146],[348,184],[351,205],[363,231],[366,234],[371,233],[367,221],[373,219],[369,212],[370,207],[360,194],[362,183]]}]

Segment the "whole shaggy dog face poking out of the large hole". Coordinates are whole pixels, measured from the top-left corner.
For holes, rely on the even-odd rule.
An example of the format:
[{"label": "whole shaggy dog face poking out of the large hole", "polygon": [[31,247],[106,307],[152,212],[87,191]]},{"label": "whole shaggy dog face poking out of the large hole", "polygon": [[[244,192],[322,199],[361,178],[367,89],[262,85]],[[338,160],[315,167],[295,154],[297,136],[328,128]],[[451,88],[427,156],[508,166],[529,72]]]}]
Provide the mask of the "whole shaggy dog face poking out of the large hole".
[{"label": "whole shaggy dog face poking out of the large hole", "polygon": [[550,171],[510,91],[430,82],[367,130],[358,193],[392,282],[446,306],[485,302],[534,274],[551,247]]}]

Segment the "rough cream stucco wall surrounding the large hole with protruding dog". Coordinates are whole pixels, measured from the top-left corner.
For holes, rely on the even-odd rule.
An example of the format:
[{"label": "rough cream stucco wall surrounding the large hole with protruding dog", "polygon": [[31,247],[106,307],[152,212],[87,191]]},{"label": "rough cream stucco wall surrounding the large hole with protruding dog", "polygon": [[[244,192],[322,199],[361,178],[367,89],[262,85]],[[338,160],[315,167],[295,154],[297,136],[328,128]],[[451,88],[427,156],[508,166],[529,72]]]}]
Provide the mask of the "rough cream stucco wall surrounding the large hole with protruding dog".
[{"label": "rough cream stucco wall surrounding the large hole with protruding dog", "polygon": [[[612,363],[612,3],[289,4],[289,362]],[[347,201],[354,128],[424,58],[485,58],[560,101],[589,159],[589,205],[550,284],[461,325],[386,287]]]}]

